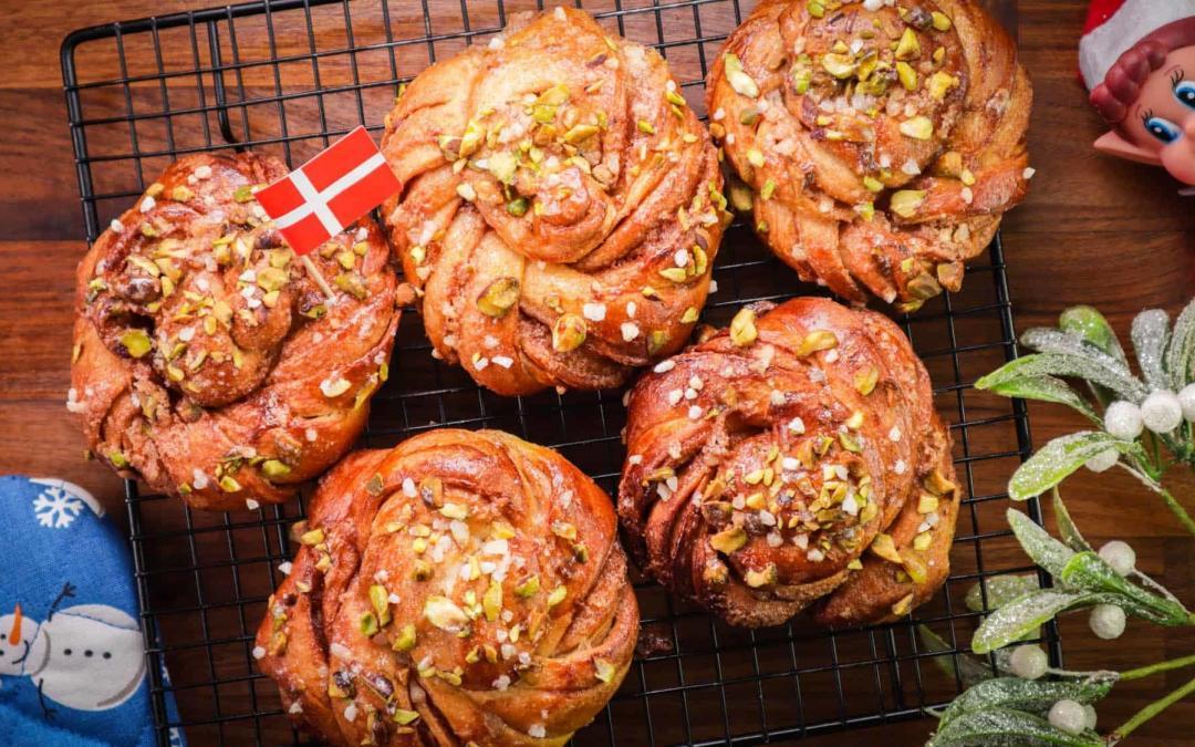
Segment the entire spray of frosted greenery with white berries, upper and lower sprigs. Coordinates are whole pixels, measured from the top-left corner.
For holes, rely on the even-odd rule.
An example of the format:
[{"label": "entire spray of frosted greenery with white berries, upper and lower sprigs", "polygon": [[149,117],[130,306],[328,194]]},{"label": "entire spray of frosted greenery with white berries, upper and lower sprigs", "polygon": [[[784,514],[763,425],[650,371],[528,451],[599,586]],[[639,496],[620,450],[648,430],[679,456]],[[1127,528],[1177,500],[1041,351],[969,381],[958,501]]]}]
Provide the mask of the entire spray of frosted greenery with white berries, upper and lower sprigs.
[{"label": "entire spray of frosted greenery with white berries, upper and lower sprigs", "polygon": [[[1007,514],[1017,541],[1053,583],[1038,588],[1035,576],[998,576],[972,589],[968,607],[989,612],[975,631],[972,648],[978,654],[993,654],[995,674],[966,656],[936,659],[969,688],[934,714],[939,722],[930,745],[1115,745],[1173,703],[1195,694],[1191,679],[1101,735],[1095,704],[1117,682],[1195,668],[1195,655],[1122,672],[1065,672],[1050,669],[1040,647],[1012,645],[1040,637],[1043,624],[1077,610],[1089,611],[1091,631],[1101,638],[1123,633],[1128,616],[1164,626],[1195,625],[1195,614],[1136,569],[1136,555],[1128,544],[1111,541],[1097,552],[1056,490],[1084,465],[1096,472],[1121,466],[1162,496],[1195,534],[1195,520],[1162,484],[1169,470],[1195,467],[1195,300],[1173,329],[1163,311],[1139,314],[1132,338],[1139,374],[1129,367],[1120,341],[1099,312],[1085,306],[1071,308],[1060,317],[1059,329],[1024,335],[1025,347],[1036,354],[976,382],[979,388],[1009,397],[1066,404],[1098,430],[1054,439],[1009,482],[1009,494],[1018,501],[1053,492],[1058,539],[1025,514],[1015,509]],[[1084,393],[1067,379],[1081,380]],[[920,631],[931,651],[949,650],[927,627]]]}]

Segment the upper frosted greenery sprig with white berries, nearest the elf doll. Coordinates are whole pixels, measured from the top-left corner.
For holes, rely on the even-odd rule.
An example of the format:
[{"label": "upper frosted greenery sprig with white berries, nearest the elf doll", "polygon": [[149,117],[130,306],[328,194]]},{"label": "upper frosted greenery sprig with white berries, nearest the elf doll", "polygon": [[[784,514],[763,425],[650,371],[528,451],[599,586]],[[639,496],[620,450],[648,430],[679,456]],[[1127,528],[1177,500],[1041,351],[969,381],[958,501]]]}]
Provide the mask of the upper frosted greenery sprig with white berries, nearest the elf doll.
[{"label": "upper frosted greenery sprig with white berries, nearest the elf doll", "polygon": [[[1173,466],[1195,467],[1195,300],[1173,329],[1166,312],[1141,312],[1132,338],[1140,374],[1104,317],[1077,306],[1059,317],[1058,329],[1022,336],[1036,354],[975,382],[1006,397],[1068,405],[1098,428],[1047,443],[1009,480],[1009,495],[1016,501],[1042,495],[1084,465],[1096,472],[1120,466],[1162,496],[1195,535],[1195,519],[1162,484]],[[1085,391],[1065,379],[1083,381]]]}]

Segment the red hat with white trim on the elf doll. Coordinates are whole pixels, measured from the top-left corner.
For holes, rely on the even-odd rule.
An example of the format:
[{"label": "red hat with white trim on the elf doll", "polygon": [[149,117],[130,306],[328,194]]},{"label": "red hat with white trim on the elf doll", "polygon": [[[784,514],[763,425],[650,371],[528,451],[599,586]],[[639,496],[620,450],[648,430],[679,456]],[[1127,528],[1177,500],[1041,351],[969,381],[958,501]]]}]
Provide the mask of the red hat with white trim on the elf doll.
[{"label": "red hat with white trim on the elf doll", "polygon": [[1091,0],[1079,39],[1079,73],[1087,88],[1130,47],[1176,20],[1195,17],[1195,0]]}]

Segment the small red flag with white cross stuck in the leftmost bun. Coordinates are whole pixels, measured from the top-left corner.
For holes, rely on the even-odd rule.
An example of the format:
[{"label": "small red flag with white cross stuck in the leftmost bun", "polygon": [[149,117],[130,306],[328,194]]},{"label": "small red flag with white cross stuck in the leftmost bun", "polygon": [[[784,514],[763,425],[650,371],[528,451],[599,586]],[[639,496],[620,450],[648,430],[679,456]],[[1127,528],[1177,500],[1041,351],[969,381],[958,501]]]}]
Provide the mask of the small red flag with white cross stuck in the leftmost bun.
[{"label": "small red flag with white cross stuck in the leftmost bun", "polygon": [[357,127],[255,197],[298,255],[306,255],[403,188]]}]

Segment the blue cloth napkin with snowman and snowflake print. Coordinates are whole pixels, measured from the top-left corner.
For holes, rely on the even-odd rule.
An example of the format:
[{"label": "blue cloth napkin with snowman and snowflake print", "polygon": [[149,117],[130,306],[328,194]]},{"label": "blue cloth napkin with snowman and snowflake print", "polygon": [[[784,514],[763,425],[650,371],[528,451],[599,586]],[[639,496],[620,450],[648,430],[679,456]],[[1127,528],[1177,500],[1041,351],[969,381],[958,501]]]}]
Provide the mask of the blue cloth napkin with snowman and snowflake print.
[{"label": "blue cloth napkin with snowman and snowflake print", "polygon": [[103,507],[0,477],[0,745],[155,745],[133,563]]}]

